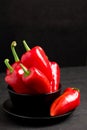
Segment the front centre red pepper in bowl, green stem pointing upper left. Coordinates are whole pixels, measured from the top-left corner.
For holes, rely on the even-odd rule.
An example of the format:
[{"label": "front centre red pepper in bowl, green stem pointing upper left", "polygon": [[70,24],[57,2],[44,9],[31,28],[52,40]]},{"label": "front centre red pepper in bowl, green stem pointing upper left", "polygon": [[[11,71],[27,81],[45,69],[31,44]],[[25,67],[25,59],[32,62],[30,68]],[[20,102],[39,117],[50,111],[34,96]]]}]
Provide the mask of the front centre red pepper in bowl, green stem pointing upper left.
[{"label": "front centre red pepper in bowl, green stem pointing upper left", "polygon": [[25,72],[22,80],[31,94],[50,93],[50,82],[40,70],[35,67],[27,69],[23,64],[20,65]]}]

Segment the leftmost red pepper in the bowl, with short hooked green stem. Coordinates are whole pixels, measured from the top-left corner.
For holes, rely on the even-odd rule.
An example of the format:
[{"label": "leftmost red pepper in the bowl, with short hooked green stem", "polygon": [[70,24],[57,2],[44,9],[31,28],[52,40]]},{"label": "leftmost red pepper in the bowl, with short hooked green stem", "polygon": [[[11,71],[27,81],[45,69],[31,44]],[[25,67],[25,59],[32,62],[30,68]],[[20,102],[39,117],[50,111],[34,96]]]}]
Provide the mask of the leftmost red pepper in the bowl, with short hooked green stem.
[{"label": "leftmost red pepper in the bowl, with short hooked green stem", "polygon": [[5,64],[9,69],[9,73],[5,76],[6,83],[17,93],[29,93],[22,81],[23,69],[18,66],[15,69],[9,64],[9,59],[5,59]]}]

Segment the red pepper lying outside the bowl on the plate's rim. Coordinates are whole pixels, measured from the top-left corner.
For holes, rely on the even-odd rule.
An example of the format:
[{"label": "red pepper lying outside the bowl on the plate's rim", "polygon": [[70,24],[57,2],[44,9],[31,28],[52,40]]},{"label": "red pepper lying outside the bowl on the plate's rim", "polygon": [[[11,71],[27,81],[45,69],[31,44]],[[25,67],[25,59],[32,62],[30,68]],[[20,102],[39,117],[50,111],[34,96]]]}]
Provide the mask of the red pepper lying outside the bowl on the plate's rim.
[{"label": "red pepper lying outside the bowl on the plate's rim", "polygon": [[54,100],[50,107],[50,115],[58,116],[75,109],[80,104],[80,91],[77,88],[67,88]]}]

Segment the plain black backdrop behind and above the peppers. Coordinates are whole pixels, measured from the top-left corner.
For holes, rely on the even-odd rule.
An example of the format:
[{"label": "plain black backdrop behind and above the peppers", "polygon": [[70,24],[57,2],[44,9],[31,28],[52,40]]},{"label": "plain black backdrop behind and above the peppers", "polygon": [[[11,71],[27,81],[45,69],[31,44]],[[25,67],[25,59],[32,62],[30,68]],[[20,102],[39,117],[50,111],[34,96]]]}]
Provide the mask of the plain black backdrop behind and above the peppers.
[{"label": "plain black backdrop behind and above the peppers", "polygon": [[0,1],[0,71],[5,58],[13,62],[10,44],[16,40],[19,57],[30,48],[43,47],[51,61],[61,67],[86,65],[86,0],[1,0]]}]

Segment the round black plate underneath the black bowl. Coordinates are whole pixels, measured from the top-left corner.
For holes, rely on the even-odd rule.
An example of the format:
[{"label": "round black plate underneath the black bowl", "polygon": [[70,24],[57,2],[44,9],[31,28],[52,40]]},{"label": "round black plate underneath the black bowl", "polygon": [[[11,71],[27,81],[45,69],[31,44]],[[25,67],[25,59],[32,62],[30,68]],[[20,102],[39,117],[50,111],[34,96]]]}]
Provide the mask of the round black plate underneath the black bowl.
[{"label": "round black plate underneath the black bowl", "polygon": [[45,125],[45,124],[53,124],[58,123],[60,121],[64,121],[68,116],[72,114],[72,111],[65,113],[60,116],[29,116],[24,114],[21,111],[17,111],[13,105],[10,99],[7,99],[3,103],[3,110],[6,112],[10,117],[13,117],[13,119],[16,119],[16,121],[20,121],[20,123],[28,123],[30,125]]}]

